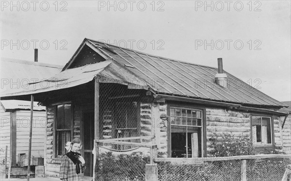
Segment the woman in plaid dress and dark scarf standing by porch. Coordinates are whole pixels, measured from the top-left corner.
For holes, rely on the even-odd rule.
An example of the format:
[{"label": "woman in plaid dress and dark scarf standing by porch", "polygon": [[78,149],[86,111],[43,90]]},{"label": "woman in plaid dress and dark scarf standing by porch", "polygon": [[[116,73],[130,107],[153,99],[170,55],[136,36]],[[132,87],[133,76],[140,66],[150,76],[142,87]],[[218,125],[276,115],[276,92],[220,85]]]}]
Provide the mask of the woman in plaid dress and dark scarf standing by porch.
[{"label": "woman in plaid dress and dark scarf standing by porch", "polygon": [[63,157],[60,167],[60,179],[62,181],[82,181],[85,172],[85,160],[79,153],[81,141],[75,138],[71,142],[71,150]]}]

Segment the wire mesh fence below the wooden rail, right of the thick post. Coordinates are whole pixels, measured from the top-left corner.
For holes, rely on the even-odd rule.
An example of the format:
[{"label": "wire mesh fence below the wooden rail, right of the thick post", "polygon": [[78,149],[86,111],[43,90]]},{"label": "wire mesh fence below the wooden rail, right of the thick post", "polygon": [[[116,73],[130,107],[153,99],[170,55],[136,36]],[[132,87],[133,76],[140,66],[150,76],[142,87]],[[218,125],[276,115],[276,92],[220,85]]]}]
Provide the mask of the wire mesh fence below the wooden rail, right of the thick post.
[{"label": "wire mesh fence below the wooden rail, right of the thick post", "polygon": [[[247,181],[281,181],[290,158],[249,159]],[[241,181],[241,160],[206,161],[199,165],[158,163],[159,181]],[[290,179],[288,180],[290,181]]]}]

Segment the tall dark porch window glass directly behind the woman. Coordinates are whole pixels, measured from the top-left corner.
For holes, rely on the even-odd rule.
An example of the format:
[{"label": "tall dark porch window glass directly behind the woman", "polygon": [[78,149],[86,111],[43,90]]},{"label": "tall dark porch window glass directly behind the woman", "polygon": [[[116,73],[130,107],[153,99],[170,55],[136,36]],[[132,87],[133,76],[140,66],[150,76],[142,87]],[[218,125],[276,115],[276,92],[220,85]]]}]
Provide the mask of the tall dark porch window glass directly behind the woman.
[{"label": "tall dark porch window glass directly behind the woman", "polygon": [[71,140],[72,108],[71,104],[61,104],[56,110],[56,151],[65,154],[65,144]]}]

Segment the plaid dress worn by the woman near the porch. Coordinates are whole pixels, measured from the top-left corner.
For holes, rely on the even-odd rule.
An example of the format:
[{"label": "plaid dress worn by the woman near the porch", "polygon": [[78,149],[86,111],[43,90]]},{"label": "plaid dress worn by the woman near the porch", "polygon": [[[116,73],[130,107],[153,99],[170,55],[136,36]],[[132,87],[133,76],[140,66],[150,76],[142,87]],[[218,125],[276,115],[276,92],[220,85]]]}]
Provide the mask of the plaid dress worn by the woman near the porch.
[{"label": "plaid dress worn by the woman near the porch", "polygon": [[69,157],[64,155],[60,167],[60,179],[62,181],[83,181],[83,173],[86,167],[80,163],[80,168],[81,173],[77,174],[76,165]]}]

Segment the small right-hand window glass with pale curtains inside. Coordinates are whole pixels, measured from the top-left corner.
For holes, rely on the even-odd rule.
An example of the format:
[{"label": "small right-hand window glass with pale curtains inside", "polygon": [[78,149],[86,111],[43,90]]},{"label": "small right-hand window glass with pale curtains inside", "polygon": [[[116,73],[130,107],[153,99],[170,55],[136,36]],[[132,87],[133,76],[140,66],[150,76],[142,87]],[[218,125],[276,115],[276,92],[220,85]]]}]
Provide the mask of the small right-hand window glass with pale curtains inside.
[{"label": "small right-hand window glass with pale curtains inside", "polygon": [[252,116],[253,144],[272,144],[271,117]]}]

